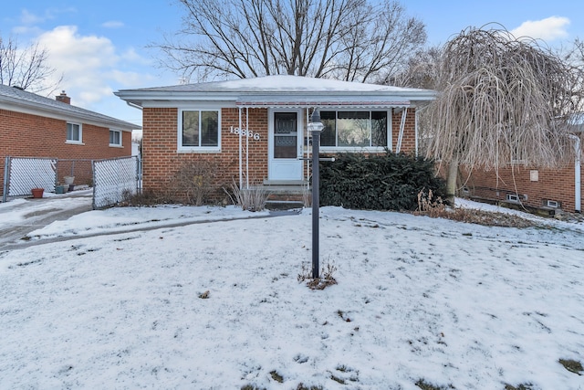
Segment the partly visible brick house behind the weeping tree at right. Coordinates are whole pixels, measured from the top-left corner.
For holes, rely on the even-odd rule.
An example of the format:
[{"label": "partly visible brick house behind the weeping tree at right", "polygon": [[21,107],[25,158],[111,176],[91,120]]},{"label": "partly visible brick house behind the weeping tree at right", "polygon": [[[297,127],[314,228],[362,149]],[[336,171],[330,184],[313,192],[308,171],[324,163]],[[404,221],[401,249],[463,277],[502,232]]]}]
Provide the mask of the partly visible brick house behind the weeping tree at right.
[{"label": "partly visible brick house behind the weeping tree at right", "polygon": [[474,170],[463,173],[464,187],[461,195],[503,204],[514,208],[526,208],[547,216],[556,216],[562,211],[582,211],[582,141],[584,118],[574,117],[570,138],[575,148],[572,163],[560,169],[539,169],[525,166],[517,161],[512,166],[494,171]]}]

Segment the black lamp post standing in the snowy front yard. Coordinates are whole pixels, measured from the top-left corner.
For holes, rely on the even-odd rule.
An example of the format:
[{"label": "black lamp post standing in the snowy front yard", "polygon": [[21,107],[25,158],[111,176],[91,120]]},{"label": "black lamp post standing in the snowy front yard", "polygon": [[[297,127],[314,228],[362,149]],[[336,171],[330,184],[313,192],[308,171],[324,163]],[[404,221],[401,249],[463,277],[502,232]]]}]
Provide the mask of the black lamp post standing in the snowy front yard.
[{"label": "black lamp post standing in the snowy front yard", "polygon": [[320,132],[324,127],[320,121],[318,109],[315,109],[308,122],[308,132],[312,133],[312,278],[314,279],[318,279],[318,209],[320,208],[318,149],[320,146]]}]

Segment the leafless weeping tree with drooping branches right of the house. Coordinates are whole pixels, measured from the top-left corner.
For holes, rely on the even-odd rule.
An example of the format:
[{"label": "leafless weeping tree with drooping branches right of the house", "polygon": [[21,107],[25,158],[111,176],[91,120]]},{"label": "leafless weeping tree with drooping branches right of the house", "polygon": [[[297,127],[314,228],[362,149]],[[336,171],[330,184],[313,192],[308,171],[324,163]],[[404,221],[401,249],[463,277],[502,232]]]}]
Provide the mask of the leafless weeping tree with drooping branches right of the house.
[{"label": "leafless weeping tree with drooping branches right of the house", "polygon": [[468,28],[446,43],[439,96],[426,112],[427,155],[448,164],[454,200],[459,164],[495,170],[520,161],[557,168],[571,156],[570,114],[579,72],[538,41],[505,29]]}]

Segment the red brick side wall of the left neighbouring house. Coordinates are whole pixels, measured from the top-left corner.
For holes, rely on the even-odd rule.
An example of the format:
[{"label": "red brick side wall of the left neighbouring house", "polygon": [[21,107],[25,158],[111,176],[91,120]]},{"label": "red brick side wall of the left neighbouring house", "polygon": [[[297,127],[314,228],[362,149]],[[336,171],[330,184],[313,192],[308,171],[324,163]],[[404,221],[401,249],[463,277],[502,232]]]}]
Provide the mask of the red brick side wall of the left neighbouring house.
[{"label": "red brick side wall of the left neighbouring house", "polygon": [[[131,154],[131,133],[122,132],[122,146],[110,147],[110,129],[81,123],[83,144],[66,143],[67,121],[15,111],[0,110],[0,180],[4,181],[5,157],[103,159]],[[59,167],[59,176],[61,168]],[[69,172],[64,167],[64,172]],[[85,169],[87,170],[87,169]],[[84,171],[85,172],[85,171]],[[85,174],[84,174],[85,175]],[[89,180],[77,177],[76,184]],[[81,180],[82,182],[78,181]],[[62,181],[62,177],[58,177]],[[0,194],[3,188],[0,185]]]}]

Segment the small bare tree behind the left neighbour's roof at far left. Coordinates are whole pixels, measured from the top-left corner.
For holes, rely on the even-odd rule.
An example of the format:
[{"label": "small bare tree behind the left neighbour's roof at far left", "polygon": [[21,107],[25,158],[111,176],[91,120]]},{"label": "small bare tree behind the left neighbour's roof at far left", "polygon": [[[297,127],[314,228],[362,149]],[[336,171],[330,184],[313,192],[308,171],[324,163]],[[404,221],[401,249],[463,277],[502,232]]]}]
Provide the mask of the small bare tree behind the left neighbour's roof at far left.
[{"label": "small bare tree behind the left neighbour's roof at far left", "polygon": [[56,69],[47,66],[47,58],[47,49],[38,43],[21,49],[16,38],[6,41],[0,37],[0,84],[31,92],[53,92],[62,77],[57,82],[50,81]]}]

